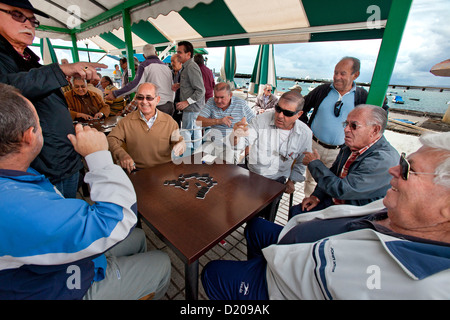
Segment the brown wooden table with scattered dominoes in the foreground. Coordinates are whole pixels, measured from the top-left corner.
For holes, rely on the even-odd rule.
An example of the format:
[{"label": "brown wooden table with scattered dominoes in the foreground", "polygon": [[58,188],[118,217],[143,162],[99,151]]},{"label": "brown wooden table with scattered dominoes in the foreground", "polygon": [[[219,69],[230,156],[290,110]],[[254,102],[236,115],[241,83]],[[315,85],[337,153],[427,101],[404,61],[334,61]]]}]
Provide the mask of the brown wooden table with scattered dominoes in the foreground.
[{"label": "brown wooden table with scattered dominoes in the foreground", "polygon": [[[198,179],[186,180],[186,191],[164,185],[166,180],[191,173],[209,174],[217,181],[203,200],[196,198]],[[186,299],[198,296],[198,259],[285,189],[281,183],[232,164],[167,163],[133,172],[130,179],[144,222],[185,263]]]}]

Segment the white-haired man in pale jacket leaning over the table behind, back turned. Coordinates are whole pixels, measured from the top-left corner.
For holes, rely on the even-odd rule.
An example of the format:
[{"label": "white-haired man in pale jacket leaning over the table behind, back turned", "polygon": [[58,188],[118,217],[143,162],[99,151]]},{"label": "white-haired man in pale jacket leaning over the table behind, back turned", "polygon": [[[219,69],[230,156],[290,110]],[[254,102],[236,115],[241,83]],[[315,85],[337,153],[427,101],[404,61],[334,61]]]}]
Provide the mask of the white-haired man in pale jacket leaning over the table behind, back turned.
[{"label": "white-haired man in pale jacket leaning over the table behind, back turned", "polygon": [[117,97],[129,95],[132,92],[136,92],[140,84],[150,82],[158,87],[159,96],[161,97],[161,101],[156,108],[172,116],[175,110],[173,106],[172,72],[158,58],[155,47],[152,44],[146,44],[143,50],[145,61],[139,64],[134,80],[121,89],[110,92],[105,99],[114,100]]}]

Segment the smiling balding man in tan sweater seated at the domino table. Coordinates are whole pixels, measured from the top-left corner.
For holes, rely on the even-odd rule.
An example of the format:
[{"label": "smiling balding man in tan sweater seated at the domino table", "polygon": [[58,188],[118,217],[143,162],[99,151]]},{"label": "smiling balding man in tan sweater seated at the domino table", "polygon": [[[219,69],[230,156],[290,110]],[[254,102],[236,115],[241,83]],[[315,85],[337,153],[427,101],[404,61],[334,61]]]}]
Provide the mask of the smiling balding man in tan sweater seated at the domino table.
[{"label": "smiling balding man in tan sweater seated at the domino table", "polygon": [[154,84],[141,84],[135,100],[138,109],[120,120],[108,135],[109,150],[128,172],[167,163],[172,151],[179,156],[186,149],[178,124],[156,109],[160,96]]}]

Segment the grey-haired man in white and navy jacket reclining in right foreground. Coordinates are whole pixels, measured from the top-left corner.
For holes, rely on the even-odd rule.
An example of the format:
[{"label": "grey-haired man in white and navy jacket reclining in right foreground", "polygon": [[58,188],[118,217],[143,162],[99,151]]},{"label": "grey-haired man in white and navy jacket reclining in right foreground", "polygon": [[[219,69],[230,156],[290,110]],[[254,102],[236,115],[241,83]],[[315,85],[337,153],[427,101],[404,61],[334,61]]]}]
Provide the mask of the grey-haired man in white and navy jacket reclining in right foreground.
[{"label": "grey-haired man in white and navy jacket reclining in right foreground", "polygon": [[284,227],[249,221],[248,261],[207,264],[207,296],[449,300],[450,132],[420,142],[418,151],[389,169],[392,187],[384,199],[298,215]]}]

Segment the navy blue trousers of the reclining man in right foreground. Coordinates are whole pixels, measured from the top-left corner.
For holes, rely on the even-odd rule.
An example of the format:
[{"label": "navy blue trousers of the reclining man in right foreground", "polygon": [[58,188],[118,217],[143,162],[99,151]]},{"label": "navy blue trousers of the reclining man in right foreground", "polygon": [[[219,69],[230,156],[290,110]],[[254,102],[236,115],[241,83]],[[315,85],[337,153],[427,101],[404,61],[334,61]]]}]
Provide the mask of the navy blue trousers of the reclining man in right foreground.
[{"label": "navy blue trousers of the reclining man in right foreground", "polygon": [[209,262],[202,271],[202,284],[211,300],[268,300],[267,262],[262,249],[277,242],[282,226],[261,218],[247,223],[248,261]]}]

